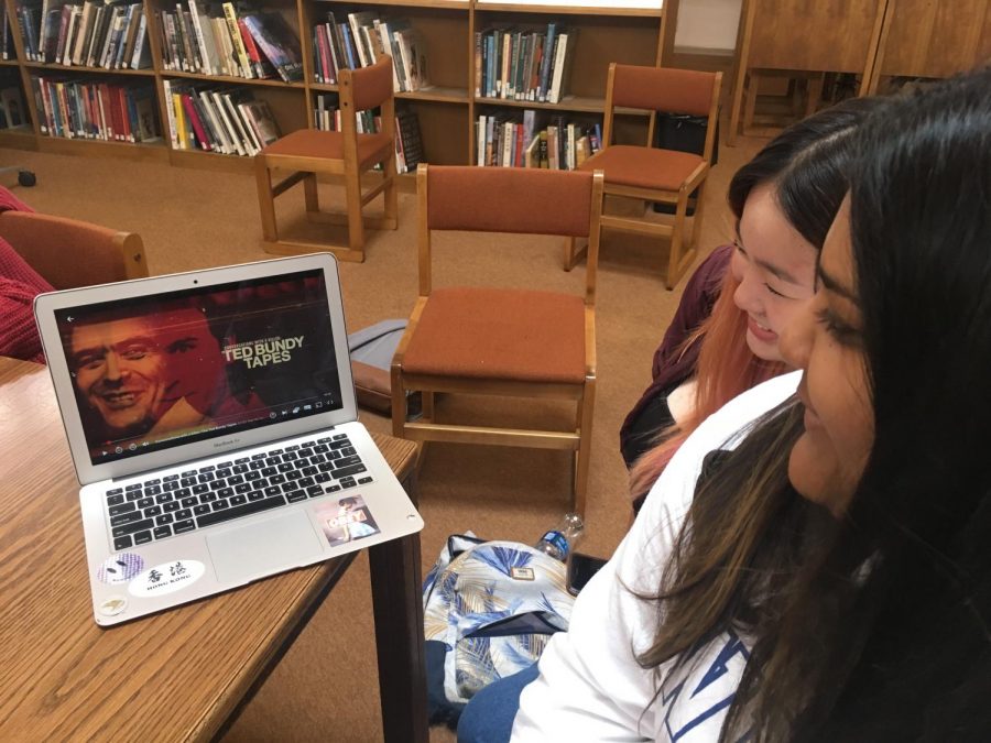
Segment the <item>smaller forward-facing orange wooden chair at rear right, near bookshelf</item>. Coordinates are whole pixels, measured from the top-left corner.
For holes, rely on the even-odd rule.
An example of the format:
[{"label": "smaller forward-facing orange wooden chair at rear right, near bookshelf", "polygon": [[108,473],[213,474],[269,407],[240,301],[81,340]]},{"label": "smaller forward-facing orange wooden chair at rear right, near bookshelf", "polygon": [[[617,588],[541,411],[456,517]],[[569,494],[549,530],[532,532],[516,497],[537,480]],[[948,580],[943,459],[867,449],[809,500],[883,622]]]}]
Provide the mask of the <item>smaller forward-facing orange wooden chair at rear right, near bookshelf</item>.
[{"label": "smaller forward-facing orange wooden chair at rear right, near bookshelf", "polygon": [[[606,83],[606,121],[602,130],[602,150],[586,160],[581,171],[601,170],[606,175],[606,195],[660,201],[675,206],[674,225],[602,215],[601,227],[613,227],[630,232],[671,237],[667,288],[674,288],[685,273],[698,244],[703,220],[704,190],[709,173],[709,160],[716,136],[716,116],[722,73],[699,73],[664,67],[609,65]],[[655,116],[651,116],[646,146],[613,144],[613,117],[617,107],[688,113],[708,117],[706,143],[701,155],[652,147]],[[695,194],[695,217],[691,240],[683,250],[683,232],[688,210],[688,197]],[[578,250],[573,238],[565,251],[565,270],[570,271],[584,248]]]}]

